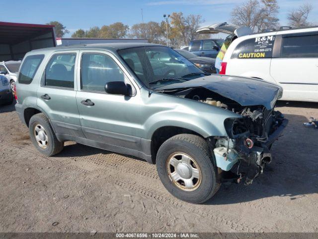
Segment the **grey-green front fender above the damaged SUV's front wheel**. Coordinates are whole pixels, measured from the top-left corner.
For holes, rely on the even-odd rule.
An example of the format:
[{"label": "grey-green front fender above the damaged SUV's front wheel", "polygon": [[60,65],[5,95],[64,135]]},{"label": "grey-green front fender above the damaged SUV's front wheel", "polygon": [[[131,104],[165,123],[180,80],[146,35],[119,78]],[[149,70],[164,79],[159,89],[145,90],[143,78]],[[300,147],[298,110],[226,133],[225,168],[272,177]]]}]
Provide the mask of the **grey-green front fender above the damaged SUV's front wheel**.
[{"label": "grey-green front fender above the damaged SUV's front wheel", "polygon": [[[240,116],[205,103],[167,96],[169,102],[160,104],[160,110],[151,114],[146,120],[144,127],[147,129],[147,139],[151,139],[153,133],[160,127],[175,126],[197,132],[203,137],[227,136],[224,120],[228,118],[239,118]],[[161,98],[162,99],[162,98]],[[165,106],[163,109],[162,106]]]}]

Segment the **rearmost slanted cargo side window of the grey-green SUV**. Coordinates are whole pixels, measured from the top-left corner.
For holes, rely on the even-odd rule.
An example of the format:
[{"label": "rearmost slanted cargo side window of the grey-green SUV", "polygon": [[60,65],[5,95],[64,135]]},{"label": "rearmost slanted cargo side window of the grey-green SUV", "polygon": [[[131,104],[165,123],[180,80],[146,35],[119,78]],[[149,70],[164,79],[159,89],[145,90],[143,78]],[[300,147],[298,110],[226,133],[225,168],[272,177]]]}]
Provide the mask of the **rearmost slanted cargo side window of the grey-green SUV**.
[{"label": "rearmost slanted cargo side window of the grey-green SUV", "polygon": [[32,82],[33,77],[38,70],[43,58],[44,55],[32,55],[27,56],[24,59],[18,79],[18,82],[20,84],[30,84]]}]

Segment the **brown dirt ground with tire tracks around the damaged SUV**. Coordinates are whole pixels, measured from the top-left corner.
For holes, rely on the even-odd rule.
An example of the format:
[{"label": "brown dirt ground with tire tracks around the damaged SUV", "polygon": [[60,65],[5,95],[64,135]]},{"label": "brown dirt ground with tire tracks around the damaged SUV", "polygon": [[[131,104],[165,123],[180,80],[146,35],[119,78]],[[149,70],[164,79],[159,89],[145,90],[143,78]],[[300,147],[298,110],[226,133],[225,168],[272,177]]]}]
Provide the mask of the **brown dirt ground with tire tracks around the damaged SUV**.
[{"label": "brown dirt ground with tire tracks around the damaged SUV", "polygon": [[0,107],[0,232],[318,232],[318,129],[303,126],[318,104],[277,109],[290,122],[264,174],[192,205],[142,160],[74,142],[41,155],[13,105]]}]

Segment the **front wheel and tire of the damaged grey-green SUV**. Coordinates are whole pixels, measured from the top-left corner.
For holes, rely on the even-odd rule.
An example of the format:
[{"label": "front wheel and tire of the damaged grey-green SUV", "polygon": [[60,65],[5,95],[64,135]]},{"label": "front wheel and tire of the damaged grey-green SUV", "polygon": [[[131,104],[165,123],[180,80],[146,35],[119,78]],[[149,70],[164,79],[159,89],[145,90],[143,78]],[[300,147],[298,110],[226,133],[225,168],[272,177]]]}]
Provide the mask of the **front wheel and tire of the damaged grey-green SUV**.
[{"label": "front wheel and tire of the damaged grey-green SUV", "polygon": [[[186,165],[187,163],[181,165],[183,161],[190,161],[191,166]],[[195,204],[212,198],[221,186],[217,182],[217,167],[214,162],[208,143],[193,134],[178,134],[167,139],[160,146],[156,157],[157,171],[164,187],[176,198]],[[198,175],[197,171],[200,178],[194,180],[194,173]],[[172,179],[180,177],[181,180],[178,181]]]}]

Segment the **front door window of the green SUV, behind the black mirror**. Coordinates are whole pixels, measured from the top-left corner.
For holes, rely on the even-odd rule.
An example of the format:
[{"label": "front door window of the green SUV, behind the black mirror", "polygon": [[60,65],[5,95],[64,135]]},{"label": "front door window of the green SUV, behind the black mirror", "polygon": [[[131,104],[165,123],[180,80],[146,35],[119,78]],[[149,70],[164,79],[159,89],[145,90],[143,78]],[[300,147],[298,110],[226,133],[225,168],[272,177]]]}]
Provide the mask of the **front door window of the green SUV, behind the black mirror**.
[{"label": "front door window of the green SUV, behind the black mirror", "polygon": [[125,81],[125,75],[114,60],[104,54],[84,53],[81,57],[81,89],[105,92],[110,81]]}]

